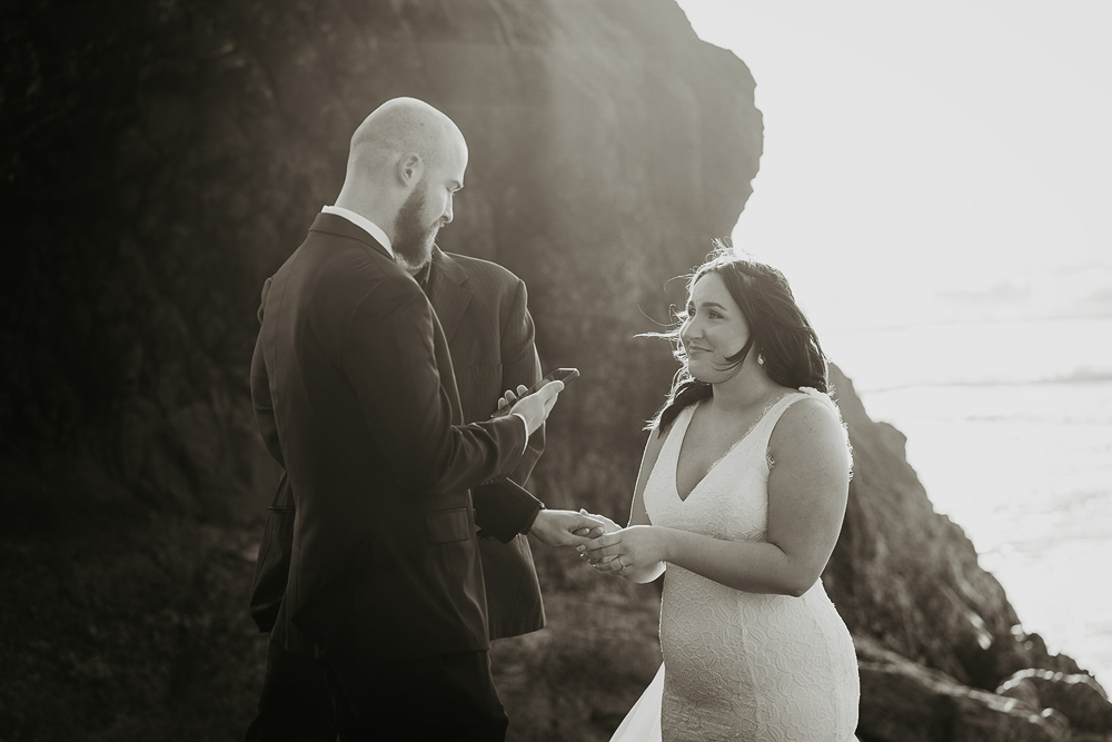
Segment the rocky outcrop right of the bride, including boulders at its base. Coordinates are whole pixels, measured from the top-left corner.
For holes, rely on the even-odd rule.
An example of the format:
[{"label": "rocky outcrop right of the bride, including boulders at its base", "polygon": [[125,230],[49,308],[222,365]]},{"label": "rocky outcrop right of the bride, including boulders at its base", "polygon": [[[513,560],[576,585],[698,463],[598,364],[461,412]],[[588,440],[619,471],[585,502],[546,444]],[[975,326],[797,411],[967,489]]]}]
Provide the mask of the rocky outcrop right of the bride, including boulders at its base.
[{"label": "rocky outcrop right of the bride, including boulders at its base", "polygon": [[1007,742],[1112,734],[1103,689],[1022,631],[961,527],[934,512],[907,464],[904,436],[870,419],[850,379],[831,370],[854,476],[823,582],[857,647],[860,735]]}]

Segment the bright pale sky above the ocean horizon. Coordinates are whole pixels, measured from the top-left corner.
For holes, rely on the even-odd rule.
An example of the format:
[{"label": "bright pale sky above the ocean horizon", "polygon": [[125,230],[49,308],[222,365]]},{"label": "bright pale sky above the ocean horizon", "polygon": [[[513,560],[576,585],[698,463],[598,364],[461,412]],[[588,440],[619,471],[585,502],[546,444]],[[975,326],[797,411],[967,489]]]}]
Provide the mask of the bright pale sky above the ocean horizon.
[{"label": "bright pale sky above the ocean horizon", "polygon": [[1112,316],[1112,2],[679,4],[757,82],[735,245],[821,334]]}]

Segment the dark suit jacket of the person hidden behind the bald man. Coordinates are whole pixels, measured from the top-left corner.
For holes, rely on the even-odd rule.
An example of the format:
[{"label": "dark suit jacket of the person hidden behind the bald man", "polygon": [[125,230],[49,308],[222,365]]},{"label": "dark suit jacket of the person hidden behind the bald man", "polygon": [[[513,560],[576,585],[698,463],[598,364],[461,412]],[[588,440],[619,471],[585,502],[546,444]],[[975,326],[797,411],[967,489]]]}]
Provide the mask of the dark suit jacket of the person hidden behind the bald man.
[{"label": "dark suit jacket of the person hidden behind the bald man", "polygon": [[[435,249],[425,293],[448,340],[465,421],[487,419],[505,389],[540,378],[533,318],[525,284],[502,266]],[[524,484],[544,451],[544,428],[529,437],[510,479]],[[473,489],[476,522],[497,521],[506,509],[495,485]],[[510,508],[514,503],[510,503]],[[292,547],[294,498],[282,475],[267,515],[251,591],[251,615],[259,630],[274,626],[286,592]],[[545,626],[540,584],[528,540],[514,534],[479,540],[490,639],[516,636]]]}]

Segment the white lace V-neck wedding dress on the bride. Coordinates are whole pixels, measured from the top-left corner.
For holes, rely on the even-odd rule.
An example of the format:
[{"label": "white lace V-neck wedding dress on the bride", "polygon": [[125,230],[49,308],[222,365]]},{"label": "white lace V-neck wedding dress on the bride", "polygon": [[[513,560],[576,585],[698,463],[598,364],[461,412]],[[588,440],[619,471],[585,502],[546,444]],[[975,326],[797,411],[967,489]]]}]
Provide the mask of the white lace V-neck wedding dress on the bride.
[{"label": "white lace V-neck wedding dress on the bride", "polygon": [[[676,463],[695,406],[684,409],[645,487],[653,524],[727,541],[764,541],[768,438],[784,410],[807,396],[833,404],[813,389],[788,394],[679,499]],[[800,597],[762,595],[668,564],[661,646],[664,665],[612,742],[855,739],[853,642],[822,581]]]}]

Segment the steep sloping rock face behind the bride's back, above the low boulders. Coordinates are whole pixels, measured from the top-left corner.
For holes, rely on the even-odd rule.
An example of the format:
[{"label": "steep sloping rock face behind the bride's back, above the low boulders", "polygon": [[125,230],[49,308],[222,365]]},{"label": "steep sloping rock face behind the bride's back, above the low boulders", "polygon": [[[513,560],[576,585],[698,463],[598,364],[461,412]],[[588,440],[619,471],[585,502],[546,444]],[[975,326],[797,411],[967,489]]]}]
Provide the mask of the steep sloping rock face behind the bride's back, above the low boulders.
[{"label": "steep sloping rock face behind the bride's back, above the low boulders", "polygon": [[903,435],[873,423],[836,368],[831,380],[853,444],[854,476],[823,581],[851,629],[986,691],[1022,667],[1078,672],[1051,656],[981,570],[961,527],[934,512],[904,454]]}]

